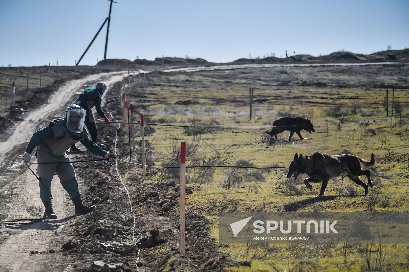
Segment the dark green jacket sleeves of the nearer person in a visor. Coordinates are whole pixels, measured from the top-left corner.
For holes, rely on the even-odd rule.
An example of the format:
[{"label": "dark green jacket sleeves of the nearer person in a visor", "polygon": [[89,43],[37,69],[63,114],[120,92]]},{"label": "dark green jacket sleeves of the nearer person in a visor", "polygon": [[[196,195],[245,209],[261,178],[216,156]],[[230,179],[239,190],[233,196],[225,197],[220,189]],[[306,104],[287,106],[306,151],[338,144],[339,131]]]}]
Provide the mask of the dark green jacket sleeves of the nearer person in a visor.
[{"label": "dark green jacket sleeves of the nearer person in a visor", "polygon": [[[27,145],[27,153],[33,152],[33,149],[41,144],[46,144],[46,139],[48,138],[54,138],[54,131],[52,127],[56,125],[58,122],[60,122],[63,119],[56,119],[53,120],[49,123],[47,127],[44,127],[38,131],[36,131],[33,136],[31,136],[30,142]],[[85,129],[85,128],[84,128]],[[92,142],[92,140],[87,136],[85,139],[80,141],[89,151],[91,151],[94,154],[97,154],[99,156],[105,156],[108,152],[106,152],[104,149],[102,149],[99,145],[96,143]]]}]

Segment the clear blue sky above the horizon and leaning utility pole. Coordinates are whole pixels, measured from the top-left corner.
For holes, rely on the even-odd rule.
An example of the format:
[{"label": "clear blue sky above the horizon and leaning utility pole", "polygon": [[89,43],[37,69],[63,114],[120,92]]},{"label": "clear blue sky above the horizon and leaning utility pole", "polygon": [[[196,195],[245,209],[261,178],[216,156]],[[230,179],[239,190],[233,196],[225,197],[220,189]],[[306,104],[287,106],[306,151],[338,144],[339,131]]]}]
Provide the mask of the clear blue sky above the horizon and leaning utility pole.
[{"label": "clear blue sky above the horizon and leaning utility pole", "polygon": [[[117,0],[107,58],[229,62],[275,53],[370,54],[409,47],[407,0]],[[108,0],[1,0],[0,65],[74,65],[108,16]],[[106,26],[81,61],[103,59]]]}]

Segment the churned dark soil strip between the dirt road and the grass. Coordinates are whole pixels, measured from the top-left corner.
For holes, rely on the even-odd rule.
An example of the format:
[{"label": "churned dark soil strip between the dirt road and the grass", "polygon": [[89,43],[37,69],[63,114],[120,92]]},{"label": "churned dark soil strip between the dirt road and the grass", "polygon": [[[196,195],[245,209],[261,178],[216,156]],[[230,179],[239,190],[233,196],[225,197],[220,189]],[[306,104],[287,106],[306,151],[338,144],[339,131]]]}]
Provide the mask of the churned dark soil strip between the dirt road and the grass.
[{"label": "churned dark soil strip between the dirt road and the grass", "polygon": [[[115,89],[114,86],[113,89]],[[140,91],[140,96],[144,96]],[[138,98],[135,96],[135,98]],[[144,105],[136,105],[142,109]],[[110,94],[106,101],[106,111],[115,118],[120,118],[121,108],[117,95]],[[148,121],[148,120],[147,120]],[[114,151],[116,132],[118,131],[117,154],[127,159],[128,139],[124,127],[117,130],[117,125],[100,124],[101,143],[104,148]],[[153,129],[146,129],[149,136]],[[133,151],[134,160],[141,161],[141,142]],[[146,140],[147,149],[152,148]],[[121,156],[122,154],[122,156]],[[147,153],[146,163],[152,165]],[[72,160],[83,158],[83,155],[72,157]],[[148,167],[148,176],[155,174]],[[142,181],[142,169],[118,161],[118,172],[124,181],[135,212],[134,218],[126,191],[118,177],[115,163],[97,162],[86,166],[76,165],[76,174],[82,183],[83,199],[97,208],[84,216],[83,220],[71,223],[74,230],[71,242],[67,241],[64,250],[83,271],[99,271],[101,263],[109,263],[124,271],[136,270],[135,261],[138,248],[141,249],[137,261],[139,268],[145,271],[166,269],[183,271],[214,271],[236,265],[228,254],[221,253],[218,244],[211,238],[207,229],[209,223],[205,216],[196,212],[187,212],[186,216],[186,256],[178,252],[179,242],[179,188],[175,184],[148,183]],[[135,238],[133,238],[133,236]],[[137,247],[133,243],[135,243]]]}]

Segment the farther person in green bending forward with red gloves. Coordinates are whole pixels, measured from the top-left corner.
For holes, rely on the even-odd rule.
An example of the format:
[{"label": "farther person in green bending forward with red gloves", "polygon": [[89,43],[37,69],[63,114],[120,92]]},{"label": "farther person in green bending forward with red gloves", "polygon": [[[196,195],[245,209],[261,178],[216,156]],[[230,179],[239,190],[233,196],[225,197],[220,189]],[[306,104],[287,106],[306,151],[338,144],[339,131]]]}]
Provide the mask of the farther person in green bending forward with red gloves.
[{"label": "farther person in green bending forward with red gloves", "polygon": [[[98,129],[95,123],[94,115],[92,114],[92,108],[95,107],[97,113],[104,119],[106,124],[109,124],[109,119],[103,113],[101,109],[101,101],[105,96],[108,87],[103,82],[98,82],[97,86],[89,87],[79,95],[77,100],[74,101],[75,105],[79,105],[87,112],[85,116],[85,125],[87,126],[90,138],[94,143],[97,143]],[[72,145],[70,151],[79,152],[81,149]]]}]

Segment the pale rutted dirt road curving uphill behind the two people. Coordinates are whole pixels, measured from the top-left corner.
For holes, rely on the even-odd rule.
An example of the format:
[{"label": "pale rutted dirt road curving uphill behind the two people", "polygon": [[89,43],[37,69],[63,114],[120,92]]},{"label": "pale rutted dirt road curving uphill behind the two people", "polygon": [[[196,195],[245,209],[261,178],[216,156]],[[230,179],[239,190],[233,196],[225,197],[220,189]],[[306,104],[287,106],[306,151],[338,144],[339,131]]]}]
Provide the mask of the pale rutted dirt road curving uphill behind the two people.
[{"label": "pale rutted dirt road curving uphill behind the two people", "polygon": [[[0,143],[2,178],[12,179],[0,190],[1,214],[6,219],[32,218],[33,216],[26,211],[26,208],[31,205],[42,206],[38,197],[38,181],[33,174],[28,169],[16,173],[19,168],[21,169],[21,156],[26,143],[32,133],[38,129],[38,125],[47,123],[53,116],[61,116],[62,110],[71,97],[76,91],[84,89],[83,86],[87,82],[104,81],[109,86],[120,81],[127,73],[127,71],[101,73],[67,82],[52,95],[47,104],[32,111],[17,124],[7,141]],[[32,168],[35,169],[35,166]],[[58,211],[58,220],[7,228],[2,225],[0,237],[5,242],[0,241],[0,271],[50,271],[55,269],[56,266],[52,260],[45,260],[45,254],[41,253],[52,250],[54,245],[55,250],[61,248],[61,241],[65,241],[67,236],[67,233],[64,232],[64,223],[71,219],[66,216],[74,212],[66,192],[58,184],[58,178],[57,181],[55,179],[53,181],[52,193],[54,210]],[[60,265],[60,268],[61,271],[70,271],[69,264]]]}]

